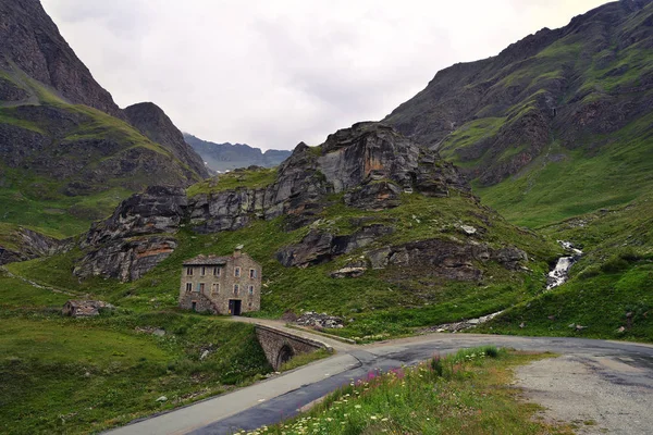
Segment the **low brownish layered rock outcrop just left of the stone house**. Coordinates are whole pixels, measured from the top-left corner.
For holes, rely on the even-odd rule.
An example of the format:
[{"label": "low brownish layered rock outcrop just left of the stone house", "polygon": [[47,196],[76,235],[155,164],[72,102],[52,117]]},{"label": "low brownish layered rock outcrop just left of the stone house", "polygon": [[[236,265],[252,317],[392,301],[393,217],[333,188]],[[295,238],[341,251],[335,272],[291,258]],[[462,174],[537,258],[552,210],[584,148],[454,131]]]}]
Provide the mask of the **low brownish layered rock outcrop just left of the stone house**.
[{"label": "low brownish layered rock outcrop just left of the stone house", "polygon": [[122,282],[140,278],[177,247],[174,237],[139,237],[106,243],[76,262],[75,276],[107,276]]}]

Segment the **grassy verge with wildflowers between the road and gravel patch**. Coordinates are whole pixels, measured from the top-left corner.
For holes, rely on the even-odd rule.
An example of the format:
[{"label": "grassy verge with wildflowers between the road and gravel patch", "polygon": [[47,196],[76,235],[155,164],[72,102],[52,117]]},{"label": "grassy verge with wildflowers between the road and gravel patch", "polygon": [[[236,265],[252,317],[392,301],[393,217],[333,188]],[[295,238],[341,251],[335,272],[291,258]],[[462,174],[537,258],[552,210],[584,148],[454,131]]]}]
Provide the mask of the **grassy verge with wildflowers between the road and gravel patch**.
[{"label": "grassy verge with wildflowers between the road and gravel patch", "polygon": [[515,365],[543,357],[486,347],[370,372],[311,411],[248,434],[571,434],[534,421],[537,407],[509,385]]}]

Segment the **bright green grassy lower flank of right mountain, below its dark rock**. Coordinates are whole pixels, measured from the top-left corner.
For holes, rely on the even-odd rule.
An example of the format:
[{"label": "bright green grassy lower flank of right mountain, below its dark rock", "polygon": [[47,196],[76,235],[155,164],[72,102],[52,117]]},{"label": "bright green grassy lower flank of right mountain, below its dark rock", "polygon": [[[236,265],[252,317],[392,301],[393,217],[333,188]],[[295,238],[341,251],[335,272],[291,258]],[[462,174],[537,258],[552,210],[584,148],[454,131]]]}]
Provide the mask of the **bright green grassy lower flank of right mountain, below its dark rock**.
[{"label": "bright green grassy lower flank of right mountain, below its dark rock", "polygon": [[526,173],[475,191],[510,222],[530,227],[628,203],[653,191],[650,119],[607,138],[600,153],[554,142],[547,152],[555,161],[540,156]]}]

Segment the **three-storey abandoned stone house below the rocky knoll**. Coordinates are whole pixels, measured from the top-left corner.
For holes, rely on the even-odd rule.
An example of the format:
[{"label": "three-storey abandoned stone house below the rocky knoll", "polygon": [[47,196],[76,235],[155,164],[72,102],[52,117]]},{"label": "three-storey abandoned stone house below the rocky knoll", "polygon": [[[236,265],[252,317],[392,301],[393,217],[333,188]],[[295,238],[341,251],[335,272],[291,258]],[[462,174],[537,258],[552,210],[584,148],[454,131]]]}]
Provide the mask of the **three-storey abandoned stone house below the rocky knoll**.
[{"label": "three-storey abandoned stone house below the rocky knoll", "polygon": [[232,256],[198,256],[184,262],[180,307],[241,315],[261,309],[261,265],[236,249]]}]

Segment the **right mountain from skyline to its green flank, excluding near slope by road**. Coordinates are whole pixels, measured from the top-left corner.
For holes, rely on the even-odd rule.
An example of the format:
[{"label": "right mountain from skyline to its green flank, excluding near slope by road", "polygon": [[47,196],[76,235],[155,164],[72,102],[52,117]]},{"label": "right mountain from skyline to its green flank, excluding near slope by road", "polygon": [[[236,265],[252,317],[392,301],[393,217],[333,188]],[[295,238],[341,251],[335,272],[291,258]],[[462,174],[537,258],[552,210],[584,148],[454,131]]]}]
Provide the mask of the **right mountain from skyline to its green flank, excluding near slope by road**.
[{"label": "right mountain from skyline to its green flank, excluding near slope by road", "polygon": [[607,3],[439,72],[384,122],[538,226],[653,191],[653,4]]}]

